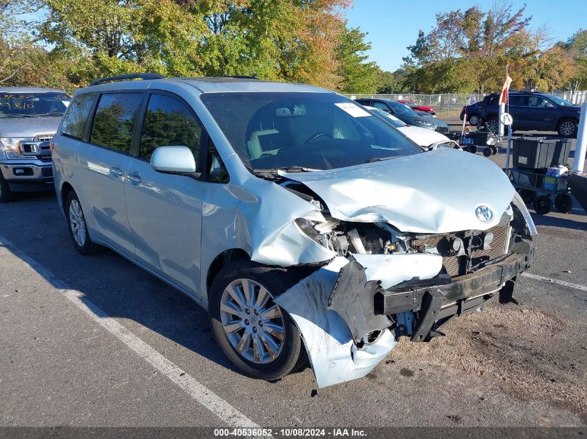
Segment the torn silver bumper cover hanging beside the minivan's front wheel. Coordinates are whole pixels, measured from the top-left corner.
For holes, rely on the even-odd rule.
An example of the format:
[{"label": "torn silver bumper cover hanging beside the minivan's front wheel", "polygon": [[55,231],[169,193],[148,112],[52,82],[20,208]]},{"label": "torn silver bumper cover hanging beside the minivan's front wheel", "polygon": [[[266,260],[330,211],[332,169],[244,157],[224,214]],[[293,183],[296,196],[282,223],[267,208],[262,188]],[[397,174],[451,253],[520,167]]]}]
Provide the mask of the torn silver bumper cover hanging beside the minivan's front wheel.
[{"label": "torn silver bumper cover hanging beside the minivan's front wheel", "polygon": [[345,321],[327,309],[338,273],[347,264],[346,258],[336,257],[274,300],[295,321],[321,388],[364,377],[397,343],[384,329],[375,343],[359,349]]}]

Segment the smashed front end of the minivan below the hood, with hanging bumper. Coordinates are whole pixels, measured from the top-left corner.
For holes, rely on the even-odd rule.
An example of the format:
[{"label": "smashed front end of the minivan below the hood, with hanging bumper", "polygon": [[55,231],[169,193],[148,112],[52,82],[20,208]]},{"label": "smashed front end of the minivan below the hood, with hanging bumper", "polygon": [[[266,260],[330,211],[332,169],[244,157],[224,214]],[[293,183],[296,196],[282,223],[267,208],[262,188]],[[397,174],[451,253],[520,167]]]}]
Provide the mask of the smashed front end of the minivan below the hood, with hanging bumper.
[{"label": "smashed front end of the minivan below the hood, with hanging bumper", "polygon": [[455,316],[511,301],[534,257],[536,229],[517,194],[493,227],[450,233],[340,221],[321,207],[325,221],[296,224],[337,256],[275,300],[302,334],[320,387],[363,377],[400,336],[429,341]]}]

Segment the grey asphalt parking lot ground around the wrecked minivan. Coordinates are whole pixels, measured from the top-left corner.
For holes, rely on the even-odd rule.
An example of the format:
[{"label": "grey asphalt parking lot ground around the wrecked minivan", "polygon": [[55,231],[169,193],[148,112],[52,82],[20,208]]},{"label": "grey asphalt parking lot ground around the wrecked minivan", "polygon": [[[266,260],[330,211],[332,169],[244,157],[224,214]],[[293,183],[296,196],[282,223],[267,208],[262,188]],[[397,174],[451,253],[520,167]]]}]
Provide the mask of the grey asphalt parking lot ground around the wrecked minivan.
[{"label": "grey asphalt parking lot ground around the wrecked minivan", "polygon": [[0,205],[0,424],[584,426],[587,214],[533,216],[518,304],[402,339],[367,377],[318,389],[309,368],[240,375],[195,302],[113,252],[78,255],[55,196],[22,196]]}]

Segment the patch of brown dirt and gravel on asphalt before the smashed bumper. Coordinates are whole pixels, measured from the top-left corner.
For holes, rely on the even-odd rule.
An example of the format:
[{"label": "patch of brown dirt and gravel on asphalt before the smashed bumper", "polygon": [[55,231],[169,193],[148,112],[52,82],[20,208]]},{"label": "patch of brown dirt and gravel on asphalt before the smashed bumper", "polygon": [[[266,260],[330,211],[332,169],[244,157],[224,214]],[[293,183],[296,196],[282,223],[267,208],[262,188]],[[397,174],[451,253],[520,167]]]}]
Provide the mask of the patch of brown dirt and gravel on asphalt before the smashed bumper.
[{"label": "patch of brown dirt and gravel on asphalt before the smashed bumper", "polygon": [[524,400],[543,399],[587,413],[587,326],[520,307],[488,307],[449,322],[445,337],[411,343],[393,356],[493,379]]}]

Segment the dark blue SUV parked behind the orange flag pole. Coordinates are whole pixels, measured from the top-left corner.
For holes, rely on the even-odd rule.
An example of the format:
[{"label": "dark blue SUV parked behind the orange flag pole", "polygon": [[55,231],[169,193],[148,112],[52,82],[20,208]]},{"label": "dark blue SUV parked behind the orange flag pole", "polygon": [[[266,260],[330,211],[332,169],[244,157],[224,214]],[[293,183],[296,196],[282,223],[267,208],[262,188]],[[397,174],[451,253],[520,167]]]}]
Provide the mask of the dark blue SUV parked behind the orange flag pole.
[{"label": "dark blue SUV parked behind the orange flag pole", "polygon": [[[496,132],[499,124],[499,93],[490,94],[481,103],[479,124]],[[559,96],[534,92],[510,92],[509,113],[513,130],[557,131],[563,137],[576,137],[579,128],[579,105]],[[469,114],[469,112],[467,112]]]}]

